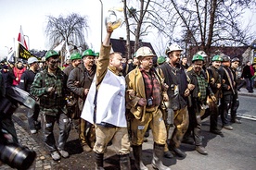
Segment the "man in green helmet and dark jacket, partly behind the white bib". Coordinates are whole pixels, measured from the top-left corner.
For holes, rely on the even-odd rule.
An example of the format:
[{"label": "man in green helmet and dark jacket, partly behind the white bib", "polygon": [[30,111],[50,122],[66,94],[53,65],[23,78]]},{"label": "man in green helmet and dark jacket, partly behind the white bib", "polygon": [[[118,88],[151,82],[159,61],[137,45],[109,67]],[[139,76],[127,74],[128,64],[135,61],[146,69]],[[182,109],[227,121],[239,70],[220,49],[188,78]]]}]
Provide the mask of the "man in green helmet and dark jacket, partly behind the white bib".
[{"label": "man in green helmet and dark jacket, partly behind the white bib", "polygon": [[[73,120],[73,122],[78,125],[79,139],[83,147],[83,152],[91,152],[91,147],[94,147],[96,139],[95,128],[80,116],[83,110],[83,104],[96,74],[96,54],[93,50],[87,49],[83,52],[82,57],[83,64],[75,67],[70,72],[67,87],[77,96],[76,98],[78,99],[79,111],[78,115],[75,115],[75,120]],[[86,130],[87,127],[89,127],[89,130]]]}]

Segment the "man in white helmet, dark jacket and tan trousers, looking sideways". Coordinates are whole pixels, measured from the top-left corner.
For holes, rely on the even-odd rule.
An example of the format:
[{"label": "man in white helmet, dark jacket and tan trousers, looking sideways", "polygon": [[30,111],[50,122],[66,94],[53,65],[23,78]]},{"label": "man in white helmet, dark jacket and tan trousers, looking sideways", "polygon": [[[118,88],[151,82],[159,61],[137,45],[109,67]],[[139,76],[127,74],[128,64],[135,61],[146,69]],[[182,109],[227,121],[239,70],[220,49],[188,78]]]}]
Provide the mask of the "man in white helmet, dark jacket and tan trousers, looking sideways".
[{"label": "man in white helmet, dark jacket and tan trousers, looking sideways", "polygon": [[[167,94],[169,102],[167,112],[173,117],[173,135],[169,143],[169,148],[179,157],[186,157],[186,153],[179,149],[188,127],[187,96],[194,85],[189,84],[186,77],[185,67],[180,64],[182,48],[178,44],[171,44],[166,55],[169,57],[169,63],[160,65],[165,82],[169,86]],[[167,129],[169,131],[169,129]]]}]

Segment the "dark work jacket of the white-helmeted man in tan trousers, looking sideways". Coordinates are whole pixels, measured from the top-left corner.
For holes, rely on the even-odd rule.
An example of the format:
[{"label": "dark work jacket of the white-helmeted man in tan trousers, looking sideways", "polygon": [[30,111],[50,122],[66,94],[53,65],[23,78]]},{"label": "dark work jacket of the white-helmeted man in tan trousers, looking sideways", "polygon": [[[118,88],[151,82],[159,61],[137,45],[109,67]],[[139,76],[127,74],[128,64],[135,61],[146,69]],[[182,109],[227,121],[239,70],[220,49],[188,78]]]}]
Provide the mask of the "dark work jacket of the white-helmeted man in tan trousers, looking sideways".
[{"label": "dark work jacket of the white-helmeted man in tan trousers, looking sideways", "polygon": [[[184,96],[184,92],[187,88],[186,71],[183,67],[178,65],[173,68],[168,63],[160,65],[160,69],[163,72],[165,83],[169,86],[167,94],[169,102],[173,110],[179,110],[186,107],[187,97]],[[178,93],[174,93],[175,87],[179,88]]]}]

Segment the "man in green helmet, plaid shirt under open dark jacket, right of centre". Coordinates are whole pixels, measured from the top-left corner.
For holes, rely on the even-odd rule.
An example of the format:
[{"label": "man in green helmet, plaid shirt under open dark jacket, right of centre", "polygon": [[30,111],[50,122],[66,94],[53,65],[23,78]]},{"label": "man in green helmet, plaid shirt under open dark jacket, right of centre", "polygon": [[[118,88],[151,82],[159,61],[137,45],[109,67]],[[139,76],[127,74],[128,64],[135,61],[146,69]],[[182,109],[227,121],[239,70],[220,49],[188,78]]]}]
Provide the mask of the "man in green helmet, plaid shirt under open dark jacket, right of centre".
[{"label": "man in green helmet, plaid shirt under open dark jacket, right of centre", "polygon": [[205,73],[202,70],[203,65],[204,57],[202,55],[194,55],[192,58],[192,69],[186,72],[189,82],[195,85],[195,88],[190,91],[191,102],[193,104],[188,107],[189,128],[186,133],[191,133],[192,130],[196,151],[200,154],[207,155],[208,152],[202,146],[200,115],[202,115],[205,109],[207,96],[210,94],[213,102],[216,102],[216,98],[207,83]]}]

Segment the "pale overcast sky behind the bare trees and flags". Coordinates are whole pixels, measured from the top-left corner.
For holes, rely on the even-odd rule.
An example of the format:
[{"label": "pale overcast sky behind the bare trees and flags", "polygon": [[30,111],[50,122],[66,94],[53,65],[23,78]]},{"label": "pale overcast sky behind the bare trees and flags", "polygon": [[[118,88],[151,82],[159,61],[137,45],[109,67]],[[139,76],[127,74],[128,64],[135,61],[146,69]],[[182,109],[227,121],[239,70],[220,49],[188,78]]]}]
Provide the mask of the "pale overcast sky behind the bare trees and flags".
[{"label": "pale overcast sky behind the bare trees and flags", "polygon": [[[103,20],[109,8],[122,7],[122,0],[102,0]],[[48,50],[45,44],[46,16],[58,18],[59,15],[67,16],[78,13],[87,16],[89,22],[88,35],[85,41],[96,52],[101,42],[101,3],[100,0],[0,0],[0,59],[7,55],[8,49],[18,46],[19,28],[22,27],[27,44],[30,49]],[[251,13],[245,15],[244,23],[252,18]],[[254,14],[255,15],[255,14]],[[251,20],[250,20],[251,21]],[[256,19],[252,19],[256,32]],[[105,24],[103,23],[103,39],[105,37]],[[123,37],[126,39],[125,27],[114,30],[112,38]],[[133,40],[133,38],[132,38]],[[153,47],[159,43],[158,35],[149,33],[144,42],[151,42]],[[168,42],[166,42],[168,44]]]}]

